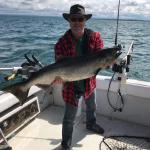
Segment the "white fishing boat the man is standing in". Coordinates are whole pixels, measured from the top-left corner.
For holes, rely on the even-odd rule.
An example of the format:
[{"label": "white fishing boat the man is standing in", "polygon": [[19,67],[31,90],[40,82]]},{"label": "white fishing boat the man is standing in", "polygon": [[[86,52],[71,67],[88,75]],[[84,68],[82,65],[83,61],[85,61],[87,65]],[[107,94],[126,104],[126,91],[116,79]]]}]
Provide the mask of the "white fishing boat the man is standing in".
[{"label": "white fishing boat the man is standing in", "polygon": [[[133,42],[128,52],[132,47]],[[150,149],[150,82],[128,79],[128,58],[124,60],[125,72],[117,72],[116,78],[102,75],[96,78],[97,122],[104,128],[104,135],[85,128],[86,108],[81,98],[73,150]],[[61,91],[62,85],[47,91],[34,85],[23,104],[13,94],[1,91],[0,149],[59,150],[64,113]]]}]

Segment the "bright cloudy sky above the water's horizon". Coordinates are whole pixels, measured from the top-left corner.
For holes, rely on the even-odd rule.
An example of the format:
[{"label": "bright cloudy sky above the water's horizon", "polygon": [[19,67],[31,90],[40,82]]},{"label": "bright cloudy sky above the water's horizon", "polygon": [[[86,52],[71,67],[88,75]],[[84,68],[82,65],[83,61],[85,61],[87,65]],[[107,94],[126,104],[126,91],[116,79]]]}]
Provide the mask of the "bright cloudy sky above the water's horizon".
[{"label": "bright cloudy sky above the water's horizon", "polygon": [[[0,0],[0,14],[62,16],[81,4],[96,18],[116,18],[119,0]],[[121,0],[120,18],[150,20],[150,0]]]}]

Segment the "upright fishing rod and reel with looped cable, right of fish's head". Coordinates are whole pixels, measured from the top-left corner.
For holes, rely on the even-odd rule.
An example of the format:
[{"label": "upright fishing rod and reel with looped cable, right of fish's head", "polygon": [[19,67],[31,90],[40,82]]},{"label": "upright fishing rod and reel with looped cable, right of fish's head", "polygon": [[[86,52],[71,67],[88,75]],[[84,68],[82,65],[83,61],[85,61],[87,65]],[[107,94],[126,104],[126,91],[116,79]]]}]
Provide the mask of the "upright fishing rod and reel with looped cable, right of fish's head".
[{"label": "upright fishing rod and reel with looped cable, right of fish's head", "polygon": [[[119,17],[120,17],[120,0],[118,2],[118,14],[117,14],[117,27],[116,27],[116,35],[115,35],[115,46],[118,44],[117,40],[118,40],[118,28],[119,28]],[[133,41],[130,44],[130,47],[128,49],[128,52],[126,54],[126,56],[124,58],[122,58],[119,62],[116,62],[113,66],[112,66],[112,71],[114,72],[109,86],[108,86],[108,91],[107,91],[107,99],[108,99],[108,103],[110,105],[110,107],[114,110],[114,111],[119,111],[121,112],[123,110],[124,107],[124,99],[123,99],[123,95],[126,94],[125,91],[125,84],[126,84],[126,80],[127,80],[127,72],[129,72],[129,65],[130,65],[130,60],[131,60],[131,53],[133,52]],[[119,82],[119,87],[118,87],[118,95],[120,96],[120,107],[114,106],[111,102],[110,102],[110,98],[109,98],[109,92],[110,92],[110,86],[111,83],[113,81],[113,78],[115,76],[115,74],[118,73],[118,81]]]}]

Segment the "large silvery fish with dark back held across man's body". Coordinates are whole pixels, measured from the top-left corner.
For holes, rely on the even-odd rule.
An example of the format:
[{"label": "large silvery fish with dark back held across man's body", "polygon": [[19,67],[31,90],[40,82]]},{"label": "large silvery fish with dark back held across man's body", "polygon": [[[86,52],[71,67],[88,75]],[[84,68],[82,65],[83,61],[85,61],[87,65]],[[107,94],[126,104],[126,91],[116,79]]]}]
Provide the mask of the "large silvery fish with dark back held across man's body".
[{"label": "large silvery fish with dark back held across man's body", "polygon": [[26,100],[32,85],[48,86],[56,78],[64,82],[86,79],[110,66],[121,54],[121,47],[102,49],[90,55],[66,57],[35,72],[27,81],[4,88],[14,94],[22,103]]}]

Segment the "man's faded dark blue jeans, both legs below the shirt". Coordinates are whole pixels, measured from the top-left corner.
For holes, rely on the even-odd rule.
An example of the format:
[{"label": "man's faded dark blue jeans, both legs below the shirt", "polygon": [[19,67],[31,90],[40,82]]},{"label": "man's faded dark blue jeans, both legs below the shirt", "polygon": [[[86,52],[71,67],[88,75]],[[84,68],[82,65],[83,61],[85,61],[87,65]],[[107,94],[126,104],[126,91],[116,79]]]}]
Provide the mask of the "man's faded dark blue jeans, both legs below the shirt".
[{"label": "man's faded dark blue jeans, both legs below the shirt", "polygon": [[[86,125],[92,125],[96,122],[96,103],[95,92],[85,100],[86,104]],[[65,114],[62,125],[62,146],[64,148],[70,148],[72,142],[73,125],[77,113],[77,107],[71,104],[65,104]]]}]

